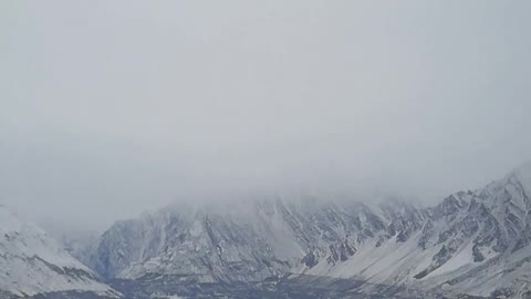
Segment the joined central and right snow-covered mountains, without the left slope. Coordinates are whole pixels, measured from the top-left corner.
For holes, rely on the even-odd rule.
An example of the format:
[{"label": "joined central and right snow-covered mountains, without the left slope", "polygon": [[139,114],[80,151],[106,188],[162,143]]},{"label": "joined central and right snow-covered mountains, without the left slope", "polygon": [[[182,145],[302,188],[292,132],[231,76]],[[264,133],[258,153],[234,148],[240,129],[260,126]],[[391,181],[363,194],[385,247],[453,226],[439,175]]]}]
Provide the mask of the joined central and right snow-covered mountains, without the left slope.
[{"label": "joined central and right snow-covered mountains, without the left slope", "polygon": [[530,196],[527,164],[433,207],[285,198],[174,205],[116,223],[84,261],[106,278],[261,281],[301,274],[523,297],[531,293]]}]

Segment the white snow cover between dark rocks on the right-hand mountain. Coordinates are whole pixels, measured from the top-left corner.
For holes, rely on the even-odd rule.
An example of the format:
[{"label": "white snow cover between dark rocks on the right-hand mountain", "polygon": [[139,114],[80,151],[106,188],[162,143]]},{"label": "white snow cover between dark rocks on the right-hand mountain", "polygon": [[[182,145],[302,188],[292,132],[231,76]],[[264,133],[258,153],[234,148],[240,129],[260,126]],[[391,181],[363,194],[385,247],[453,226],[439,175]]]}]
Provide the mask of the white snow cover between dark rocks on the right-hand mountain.
[{"label": "white snow cover between dark rocks on the right-hand mountain", "polygon": [[[447,291],[464,292],[475,296],[490,296],[498,289],[511,289],[514,298],[530,290],[531,286],[531,248],[524,246],[518,249],[517,244],[525,239],[525,234],[531,233],[529,210],[531,210],[531,163],[524,164],[509,173],[504,178],[489,184],[473,194],[454,194],[454,198],[461,198],[467,203],[466,208],[455,213],[455,218],[441,218],[434,224],[434,231],[439,234],[451,231],[452,237],[433,247],[423,249],[418,246],[423,231],[417,231],[406,243],[397,243],[395,238],[384,241],[379,247],[374,247],[374,240],[362,244],[355,255],[348,260],[330,265],[322,260],[315,267],[304,272],[316,276],[330,276],[337,278],[356,278],[372,283],[408,285],[413,287],[433,289],[440,287]],[[470,200],[475,198],[485,205],[489,215],[496,219],[498,230],[490,230],[498,243],[492,241],[482,246],[478,241],[483,235],[481,221],[478,217],[473,223],[480,229],[469,237],[462,237],[459,225],[470,217],[468,208]],[[514,218],[509,217],[509,215]],[[510,219],[510,221],[508,220]],[[514,220],[516,219],[516,220]],[[520,226],[518,226],[520,224]],[[528,226],[525,226],[528,224]],[[511,235],[510,225],[520,227],[520,231]],[[487,230],[489,233],[489,230]],[[459,239],[459,245],[450,258],[442,265],[420,279],[414,278],[433,264],[434,256],[442,245],[449,245]],[[489,238],[487,238],[489,239]],[[507,246],[504,250],[496,249],[497,245]],[[529,244],[529,241],[527,243]],[[473,258],[473,247],[483,255],[483,260]]]}]

